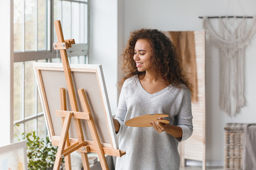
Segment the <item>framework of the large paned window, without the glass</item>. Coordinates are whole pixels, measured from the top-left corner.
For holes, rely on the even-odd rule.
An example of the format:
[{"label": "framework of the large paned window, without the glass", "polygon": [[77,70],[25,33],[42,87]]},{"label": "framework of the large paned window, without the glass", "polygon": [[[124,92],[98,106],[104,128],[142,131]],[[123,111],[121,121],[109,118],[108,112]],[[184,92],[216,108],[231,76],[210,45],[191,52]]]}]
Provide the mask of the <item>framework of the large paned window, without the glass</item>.
[{"label": "framework of the large paned window, without the glass", "polygon": [[[13,4],[14,4],[14,0],[13,1]],[[37,0],[36,1],[36,6],[37,6]],[[46,0],[46,8],[47,8],[47,20],[46,21],[46,35],[47,35],[47,39],[46,39],[46,50],[38,50],[38,42],[37,42],[37,33],[38,33],[38,21],[37,21],[37,14],[36,14],[36,50],[35,51],[26,51],[25,50],[25,28],[26,28],[26,23],[25,23],[25,0],[23,1],[24,3],[24,11],[23,11],[23,51],[21,52],[14,52],[14,61],[12,64],[14,64],[15,62],[23,62],[23,78],[22,78],[22,82],[23,82],[23,86],[22,86],[22,115],[21,115],[21,120],[16,120],[14,121],[14,111],[11,113],[12,115],[12,123],[13,123],[13,126],[15,125],[19,125],[19,124],[23,124],[23,132],[26,132],[25,131],[25,123],[30,121],[30,120],[36,120],[36,132],[38,132],[38,118],[41,118],[43,116],[43,113],[38,113],[37,112],[37,103],[38,103],[38,88],[37,88],[37,85],[36,85],[36,91],[35,91],[35,103],[36,103],[36,108],[35,108],[35,111],[36,113],[32,116],[29,116],[29,117],[25,117],[25,96],[24,96],[24,91],[25,91],[25,80],[24,80],[24,77],[25,77],[25,62],[28,62],[28,61],[38,61],[38,60],[46,60],[48,62],[52,62],[52,60],[54,58],[56,58],[56,56],[59,56],[60,57],[60,53],[59,51],[57,50],[53,50],[53,35],[54,35],[54,32],[55,32],[55,28],[54,28],[54,24],[53,24],[53,17],[54,17],[54,11],[53,11],[53,6],[54,6],[54,1],[55,0]],[[87,34],[86,38],[86,42],[87,43],[78,43],[78,44],[75,44],[75,45],[72,45],[72,48],[68,49],[67,50],[67,54],[68,54],[68,57],[70,59],[70,57],[73,57],[73,56],[86,56],[85,57],[85,62],[88,63],[89,62],[89,42],[90,42],[90,37],[89,37],[89,33],[90,33],[90,11],[89,11],[89,6],[90,6],[90,0],[87,0],[87,1],[76,1],[76,0],[59,0],[61,1],[61,3],[63,3],[63,1],[69,1],[70,2],[70,8],[72,8],[72,4],[73,2],[75,3],[80,3],[80,4],[87,4],[87,6],[85,6],[86,8],[86,11],[87,11],[87,15],[85,13],[85,17],[87,16],[87,18],[85,18],[87,20],[87,32],[85,34]],[[36,13],[38,13],[38,8],[36,8]],[[12,10],[12,14],[14,16],[14,10]],[[61,23],[62,23],[62,20],[63,20],[63,11],[61,11]],[[70,23],[72,23],[72,17],[70,18]],[[85,21],[86,22],[86,21]],[[11,22],[12,26],[14,26],[14,21]],[[70,30],[71,33],[72,33],[72,30]],[[48,33],[50,32],[50,33]],[[14,36],[14,31],[12,32],[13,36]],[[78,58],[79,59],[79,58]],[[61,59],[60,59],[61,60]],[[12,77],[14,77],[14,74],[12,74]],[[13,79],[13,78],[12,78]],[[36,83],[36,82],[35,82]],[[14,98],[12,98],[12,103],[14,103]],[[14,107],[14,104],[13,106]],[[13,109],[14,110],[14,109]],[[12,140],[14,140],[14,128],[13,127],[10,127],[11,129],[11,138]]]}]

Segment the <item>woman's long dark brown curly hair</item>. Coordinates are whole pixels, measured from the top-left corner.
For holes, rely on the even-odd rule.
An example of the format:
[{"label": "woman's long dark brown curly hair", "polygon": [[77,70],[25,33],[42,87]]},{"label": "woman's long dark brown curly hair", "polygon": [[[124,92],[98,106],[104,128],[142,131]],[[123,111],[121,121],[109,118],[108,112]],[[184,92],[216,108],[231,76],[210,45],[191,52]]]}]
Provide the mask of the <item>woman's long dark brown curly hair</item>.
[{"label": "woman's long dark brown curly hair", "polygon": [[181,84],[185,84],[188,89],[191,84],[188,83],[183,69],[181,67],[181,59],[176,55],[176,49],[171,40],[161,31],[156,29],[141,29],[134,31],[127,43],[127,47],[121,55],[123,78],[119,82],[122,86],[124,81],[134,75],[143,76],[146,72],[139,72],[134,62],[134,47],[139,39],[149,42],[152,49],[151,67],[156,71],[156,76],[165,80],[166,85],[172,84],[181,88]]}]

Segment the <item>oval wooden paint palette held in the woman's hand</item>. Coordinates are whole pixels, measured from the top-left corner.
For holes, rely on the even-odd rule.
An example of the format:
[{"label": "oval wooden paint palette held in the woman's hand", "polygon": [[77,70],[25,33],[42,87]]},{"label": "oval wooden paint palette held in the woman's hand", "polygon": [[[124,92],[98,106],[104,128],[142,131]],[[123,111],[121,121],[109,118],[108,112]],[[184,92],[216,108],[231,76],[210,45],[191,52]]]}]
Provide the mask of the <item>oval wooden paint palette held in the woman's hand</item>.
[{"label": "oval wooden paint palette held in the woman's hand", "polygon": [[167,124],[170,121],[169,120],[164,120],[164,119],[159,119],[159,118],[166,118],[169,115],[166,114],[149,114],[149,115],[141,115],[136,118],[132,118],[130,120],[127,120],[124,124],[127,126],[132,126],[132,127],[151,127],[151,122],[160,122],[163,124]]}]

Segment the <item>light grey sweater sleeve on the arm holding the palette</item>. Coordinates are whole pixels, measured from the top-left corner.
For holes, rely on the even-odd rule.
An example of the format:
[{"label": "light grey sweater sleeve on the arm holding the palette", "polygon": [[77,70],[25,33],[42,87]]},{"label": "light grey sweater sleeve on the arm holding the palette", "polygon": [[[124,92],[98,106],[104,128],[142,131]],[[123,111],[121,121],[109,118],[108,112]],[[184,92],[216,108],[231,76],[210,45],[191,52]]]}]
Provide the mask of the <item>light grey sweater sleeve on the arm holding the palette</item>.
[{"label": "light grey sweater sleeve on the arm holding the palette", "polygon": [[193,133],[191,109],[191,92],[188,89],[183,90],[181,107],[177,115],[177,125],[182,129],[182,138],[177,139],[178,142],[187,140]]}]

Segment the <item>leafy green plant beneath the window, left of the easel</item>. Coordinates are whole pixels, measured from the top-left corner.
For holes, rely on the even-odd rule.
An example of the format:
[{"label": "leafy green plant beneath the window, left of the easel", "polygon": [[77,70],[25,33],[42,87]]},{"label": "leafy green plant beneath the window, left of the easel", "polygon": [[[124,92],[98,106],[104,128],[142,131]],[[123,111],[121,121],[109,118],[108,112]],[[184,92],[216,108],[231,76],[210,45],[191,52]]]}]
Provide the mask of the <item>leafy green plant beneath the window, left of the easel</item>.
[{"label": "leafy green plant beneath the window, left of the easel", "polygon": [[26,135],[28,169],[53,169],[58,147],[51,145],[49,137],[43,138],[30,132]]}]

